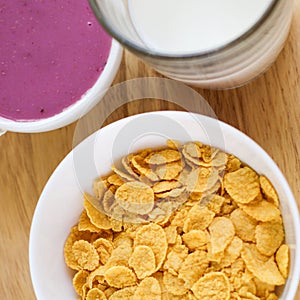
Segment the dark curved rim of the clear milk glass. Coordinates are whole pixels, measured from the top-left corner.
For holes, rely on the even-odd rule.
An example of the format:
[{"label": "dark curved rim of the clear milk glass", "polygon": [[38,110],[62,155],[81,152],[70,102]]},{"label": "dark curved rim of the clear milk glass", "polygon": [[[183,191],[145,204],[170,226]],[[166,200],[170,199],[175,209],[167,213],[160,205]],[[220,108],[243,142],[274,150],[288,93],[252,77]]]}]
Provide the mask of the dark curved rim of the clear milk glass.
[{"label": "dark curved rim of the clear milk glass", "polygon": [[97,0],[88,0],[88,1],[92,11],[94,12],[95,17],[97,18],[101,26],[108,32],[110,36],[112,36],[112,38],[116,39],[121,45],[123,45],[129,51],[142,56],[148,56],[153,59],[177,60],[177,59],[204,58],[210,55],[218,54],[222,51],[226,51],[231,47],[239,44],[241,41],[245,40],[250,35],[252,35],[268,19],[268,17],[272,14],[272,12],[274,11],[274,9],[276,8],[276,6],[281,0],[272,0],[268,8],[261,15],[261,17],[248,30],[246,30],[243,34],[241,34],[234,40],[211,50],[204,50],[196,53],[187,53],[187,54],[164,54],[156,50],[143,48],[133,43],[132,41],[122,36],[117,30],[115,30],[115,28],[113,28],[110,25],[107,18],[105,18],[102,12],[98,9],[98,5],[96,3]]}]

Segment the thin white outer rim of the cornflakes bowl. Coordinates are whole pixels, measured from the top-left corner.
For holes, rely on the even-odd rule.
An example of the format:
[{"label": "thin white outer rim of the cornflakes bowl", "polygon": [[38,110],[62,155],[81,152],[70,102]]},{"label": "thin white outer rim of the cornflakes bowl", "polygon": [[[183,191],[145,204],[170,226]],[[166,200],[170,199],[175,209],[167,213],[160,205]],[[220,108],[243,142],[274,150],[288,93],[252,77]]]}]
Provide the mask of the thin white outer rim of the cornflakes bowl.
[{"label": "thin white outer rim of the cornflakes bowl", "polygon": [[[130,120],[133,120],[134,118],[137,117],[143,117],[143,116],[149,116],[149,115],[162,115],[162,116],[167,116],[170,118],[176,118],[176,119],[180,119],[180,118],[185,118],[186,115],[192,115],[195,116],[195,118],[200,118],[202,121],[205,121],[206,123],[210,123],[210,122],[217,122],[220,127],[221,130],[224,132],[230,132],[232,136],[234,135],[238,135],[239,136],[239,140],[243,141],[243,143],[247,143],[249,147],[255,149],[256,151],[260,152],[260,154],[264,157],[264,159],[266,161],[268,161],[268,164],[271,165],[273,171],[276,172],[277,177],[280,179],[281,183],[282,183],[282,187],[285,191],[285,193],[287,194],[287,200],[289,205],[291,206],[291,213],[293,215],[293,220],[294,220],[294,231],[300,232],[300,218],[299,218],[299,211],[298,211],[298,207],[296,204],[296,200],[294,198],[294,195],[284,177],[284,175],[282,174],[281,170],[279,169],[279,167],[277,166],[277,164],[272,160],[272,158],[269,156],[269,154],[261,147],[259,146],[254,140],[252,140],[250,137],[248,137],[246,134],[244,134],[243,132],[241,132],[239,129],[224,123],[223,121],[219,121],[217,119],[213,119],[211,117],[207,117],[204,115],[200,115],[197,113],[189,113],[189,112],[183,112],[183,111],[154,111],[154,112],[147,112],[147,113],[141,113],[141,114],[136,114],[136,115],[132,115],[120,120],[117,120],[101,129],[99,129],[98,131],[94,132],[93,134],[91,134],[90,136],[88,136],[86,139],[84,139],[80,144],[78,144],[72,151],[70,151],[65,158],[60,162],[60,164],[57,166],[57,168],[55,169],[55,171],[52,173],[52,175],[50,176],[48,182],[46,183],[41,196],[39,198],[39,201],[37,203],[37,206],[35,208],[35,212],[32,218],[32,224],[31,224],[31,229],[30,229],[30,237],[29,237],[29,266],[30,266],[30,275],[31,275],[31,279],[32,279],[32,284],[34,287],[34,291],[35,294],[37,296],[37,299],[42,299],[42,296],[45,295],[43,293],[43,291],[40,289],[40,284],[39,284],[39,280],[42,280],[39,278],[38,274],[36,274],[36,270],[35,270],[35,257],[33,255],[33,250],[35,248],[35,235],[38,231],[38,218],[39,215],[41,213],[41,211],[43,210],[43,206],[45,203],[45,198],[44,195],[47,193],[47,188],[49,186],[49,183],[51,183],[51,181],[55,178],[56,173],[59,173],[61,171],[61,169],[64,168],[64,165],[66,163],[68,163],[68,161],[70,161],[72,159],[72,154],[74,152],[74,150],[77,147],[81,147],[82,145],[84,145],[84,143],[87,142],[87,140],[89,139],[93,139],[95,135],[97,135],[100,131],[107,131],[110,130],[110,128],[112,127],[117,127],[117,126],[122,126],[124,124],[126,124],[127,122],[129,122]],[[300,249],[300,236],[296,235],[295,237],[296,239],[296,249]],[[293,274],[293,277],[290,277],[290,289],[288,290],[288,294],[287,294],[287,300],[289,299],[293,299],[297,288],[298,288],[298,284],[299,284],[299,278],[300,278],[300,251],[296,252],[296,256],[295,256],[295,262],[294,262],[294,270],[298,270],[298,272],[296,271],[295,274]],[[71,278],[70,278],[71,281]],[[280,298],[281,299],[281,298]]]}]

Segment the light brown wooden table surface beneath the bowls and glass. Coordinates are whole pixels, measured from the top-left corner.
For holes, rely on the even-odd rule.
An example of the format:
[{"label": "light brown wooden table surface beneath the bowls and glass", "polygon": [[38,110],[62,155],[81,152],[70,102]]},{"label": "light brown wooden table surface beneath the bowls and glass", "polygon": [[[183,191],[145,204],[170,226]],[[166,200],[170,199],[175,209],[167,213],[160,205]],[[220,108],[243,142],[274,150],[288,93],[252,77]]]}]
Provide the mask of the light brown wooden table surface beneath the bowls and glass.
[{"label": "light brown wooden table surface beneath the bowls and glass", "polygon": [[[279,165],[300,206],[300,1],[288,42],[276,63],[238,89],[196,89],[217,117],[245,132]],[[125,52],[114,84],[160,76]],[[160,76],[161,77],[161,76]],[[162,100],[130,102],[106,120],[155,110],[182,110]],[[193,112],[201,113],[195,103]],[[58,163],[72,149],[76,127],[41,134],[7,133],[0,138],[0,299],[35,299],[28,265],[31,219],[39,195]],[[298,289],[300,299],[300,291]],[[55,300],[55,299],[54,299]]]}]

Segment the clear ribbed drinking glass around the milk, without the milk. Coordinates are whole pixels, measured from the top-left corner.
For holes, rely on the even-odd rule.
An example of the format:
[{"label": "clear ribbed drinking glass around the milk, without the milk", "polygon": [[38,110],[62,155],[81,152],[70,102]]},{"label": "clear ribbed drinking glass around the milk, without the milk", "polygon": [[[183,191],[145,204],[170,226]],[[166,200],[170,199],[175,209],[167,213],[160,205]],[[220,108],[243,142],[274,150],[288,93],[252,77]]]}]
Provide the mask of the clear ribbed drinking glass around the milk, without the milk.
[{"label": "clear ribbed drinking glass around the milk, without the milk", "polygon": [[227,44],[198,53],[174,54],[155,51],[143,42],[130,15],[130,0],[89,2],[108,33],[158,72],[211,89],[237,87],[265,71],[284,45],[293,11],[293,0],[273,0],[250,29]]}]

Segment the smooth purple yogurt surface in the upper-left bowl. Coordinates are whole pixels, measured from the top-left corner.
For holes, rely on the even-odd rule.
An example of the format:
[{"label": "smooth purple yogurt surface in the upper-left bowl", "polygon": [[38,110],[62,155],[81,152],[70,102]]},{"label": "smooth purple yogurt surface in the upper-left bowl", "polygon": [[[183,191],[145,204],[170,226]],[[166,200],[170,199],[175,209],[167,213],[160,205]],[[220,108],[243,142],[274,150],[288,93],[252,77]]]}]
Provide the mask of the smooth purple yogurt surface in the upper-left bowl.
[{"label": "smooth purple yogurt surface in the upper-left bowl", "polygon": [[0,116],[54,116],[97,81],[111,37],[87,0],[0,0]]}]

